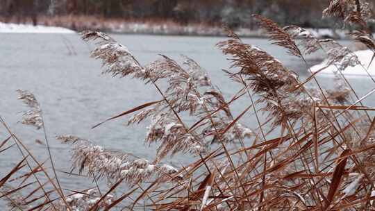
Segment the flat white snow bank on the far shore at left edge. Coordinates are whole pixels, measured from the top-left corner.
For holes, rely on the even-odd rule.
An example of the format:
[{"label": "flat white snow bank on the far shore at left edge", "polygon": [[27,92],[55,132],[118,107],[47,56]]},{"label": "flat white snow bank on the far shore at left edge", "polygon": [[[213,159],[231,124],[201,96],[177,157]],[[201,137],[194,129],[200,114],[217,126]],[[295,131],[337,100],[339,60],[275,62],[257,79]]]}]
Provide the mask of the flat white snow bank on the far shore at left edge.
[{"label": "flat white snow bank on the far shore at left edge", "polygon": [[0,33],[76,33],[68,28],[56,26],[33,26],[31,24],[6,24],[0,22]]}]

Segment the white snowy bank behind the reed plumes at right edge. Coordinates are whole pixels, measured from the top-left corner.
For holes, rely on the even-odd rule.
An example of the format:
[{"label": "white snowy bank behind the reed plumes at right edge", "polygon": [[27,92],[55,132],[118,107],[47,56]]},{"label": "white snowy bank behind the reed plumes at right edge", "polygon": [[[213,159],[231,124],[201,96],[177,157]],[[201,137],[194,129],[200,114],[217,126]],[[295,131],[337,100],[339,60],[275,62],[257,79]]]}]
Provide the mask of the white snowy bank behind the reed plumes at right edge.
[{"label": "white snowy bank behind the reed plumes at right edge", "polygon": [[[344,71],[342,71],[342,74],[345,76],[368,76],[367,72],[365,71],[365,68],[369,67],[369,62],[372,60],[372,56],[374,56],[374,52],[370,50],[365,51],[356,51],[354,52],[356,56],[358,57],[358,60],[360,61],[361,65],[356,65],[354,67],[347,67]],[[311,71],[316,72],[319,69],[322,69],[327,66],[327,60],[324,60],[319,65],[315,65],[311,67]],[[338,68],[334,65],[326,67],[326,69],[323,69],[318,73],[320,76],[333,76],[333,74],[338,71]],[[368,69],[369,74],[372,76],[375,76],[375,60],[372,62]]]}]

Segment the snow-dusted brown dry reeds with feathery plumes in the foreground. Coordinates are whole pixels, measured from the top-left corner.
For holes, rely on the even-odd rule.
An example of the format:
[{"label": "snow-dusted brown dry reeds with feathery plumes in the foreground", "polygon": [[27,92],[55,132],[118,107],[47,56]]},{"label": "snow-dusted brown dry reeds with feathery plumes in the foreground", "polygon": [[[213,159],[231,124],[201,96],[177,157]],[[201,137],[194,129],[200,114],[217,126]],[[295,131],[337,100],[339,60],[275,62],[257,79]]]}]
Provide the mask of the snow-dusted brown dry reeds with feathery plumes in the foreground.
[{"label": "snow-dusted brown dry reeds with feathery plumes in the foreground", "polygon": [[[375,52],[366,6],[365,1],[334,0],[324,14],[358,28],[353,39]],[[256,19],[274,44],[305,62],[307,69],[306,55],[326,53],[329,63],[340,69],[335,89],[325,90],[317,82],[319,71],[300,81],[269,53],[226,29],[228,40],[217,46],[231,60],[228,78],[242,88],[225,99],[190,58],[178,64],[161,56],[142,65],[108,35],[88,31],[83,40],[96,44],[92,57],[103,62],[104,73],[138,78],[160,94],[159,101],[106,120],[133,114],[128,124],[151,121],[144,141],[158,144],[154,160],[62,135],[57,139],[72,145],[72,169],[96,184],[93,189],[62,189],[56,172],[51,174],[51,155],[52,169],[36,160],[1,119],[9,137],[1,142],[0,152],[17,146],[24,156],[1,178],[0,197],[15,210],[372,210],[375,119],[369,111],[375,108],[363,100],[374,90],[358,96],[341,72],[357,65],[358,58],[338,42],[319,40],[298,26],[281,28],[265,17]],[[31,93],[19,92],[34,111],[26,112],[24,123],[41,128],[42,106]],[[238,99],[248,100],[235,116],[231,103]],[[249,112],[258,123],[253,130],[240,123]],[[260,112],[267,116],[263,121]],[[186,124],[187,115],[196,123]],[[179,169],[164,163],[167,155],[176,153],[188,153],[196,161]],[[23,168],[28,173],[19,175]],[[11,187],[15,181],[17,186]],[[110,185],[102,192],[97,184],[106,182]],[[128,192],[118,195],[122,184]]]}]

